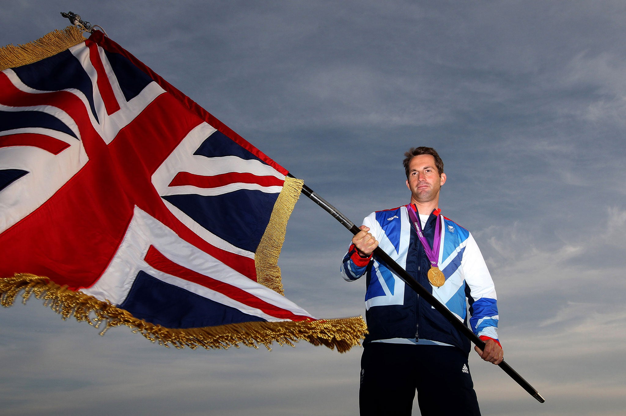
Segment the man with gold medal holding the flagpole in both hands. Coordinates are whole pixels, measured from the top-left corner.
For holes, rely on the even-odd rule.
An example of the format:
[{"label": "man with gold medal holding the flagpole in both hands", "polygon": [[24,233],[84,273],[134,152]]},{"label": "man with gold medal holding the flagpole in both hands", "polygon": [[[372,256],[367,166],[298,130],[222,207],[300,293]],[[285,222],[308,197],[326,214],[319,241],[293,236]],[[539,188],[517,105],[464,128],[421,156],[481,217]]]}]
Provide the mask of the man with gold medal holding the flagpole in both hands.
[{"label": "man with gold medal holding the flagpole in both hands", "polygon": [[471,328],[486,344],[475,350],[485,361],[502,361],[496,293],[485,260],[469,231],[439,209],[443,162],[431,147],[411,148],[404,156],[411,202],[366,217],[341,268],[347,281],[366,276],[361,415],[410,415],[416,390],[422,415],[480,415],[469,340],[372,257],[380,244],[459,320],[467,321],[469,302]]}]

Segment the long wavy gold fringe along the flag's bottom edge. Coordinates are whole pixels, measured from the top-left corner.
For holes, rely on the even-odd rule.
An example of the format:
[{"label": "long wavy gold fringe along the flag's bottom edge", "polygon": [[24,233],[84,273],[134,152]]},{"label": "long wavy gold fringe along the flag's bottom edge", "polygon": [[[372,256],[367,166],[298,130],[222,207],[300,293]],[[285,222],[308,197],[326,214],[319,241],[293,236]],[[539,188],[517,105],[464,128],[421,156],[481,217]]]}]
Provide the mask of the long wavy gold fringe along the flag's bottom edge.
[{"label": "long wavy gold fringe along the flag's bottom edge", "polygon": [[264,345],[270,350],[274,342],[279,345],[294,346],[298,340],[309,341],[313,345],[326,345],[337,348],[340,353],[348,351],[352,346],[361,345],[361,338],[367,333],[367,326],[361,316],[354,318],[316,320],[316,321],[280,321],[280,322],[247,322],[222,326],[206,326],[204,328],[165,328],[133,315],[117,306],[100,301],[80,291],[69,290],[67,286],[59,286],[49,278],[28,273],[17,273],[13,278],[0,278],[0,304],[8,307],[13,305],[20,291],[23,301],[34,294],[37,299],[44,299],[44,306],[59,313],[63,320],[74,316],[78,321],[86,321],[90,325],[104,329],[126,325],[139,332],[148,340],[170,347],[195,350],[198,347],[209,349],[226,349],[239,344],[245,346]]}]

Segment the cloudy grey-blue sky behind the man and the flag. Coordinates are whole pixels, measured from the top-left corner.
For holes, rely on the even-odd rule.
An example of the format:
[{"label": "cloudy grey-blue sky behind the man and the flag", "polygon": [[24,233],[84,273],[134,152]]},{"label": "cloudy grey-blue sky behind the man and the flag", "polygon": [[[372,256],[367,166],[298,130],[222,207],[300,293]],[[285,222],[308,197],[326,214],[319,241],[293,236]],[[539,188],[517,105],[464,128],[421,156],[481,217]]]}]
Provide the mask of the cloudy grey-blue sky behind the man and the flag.
[{"label": "cloudy grey-blue sky behind the man and the flag", "polygon": [[[15,0],[0,44],[63,29],[61,11],[357,224],[408,203],[403,153],[436,148],[439,207],[490,268],[505,360],[546,399],[472,351],[483,415],[623,415],[626,3]],[[364,281],[339,276],[350,239],[301,197],[279,260],[287,298],[364,315]],[[358,414],[361,347],[175,350],[98,332],[37,299],[0,310],[2,413]]]}]

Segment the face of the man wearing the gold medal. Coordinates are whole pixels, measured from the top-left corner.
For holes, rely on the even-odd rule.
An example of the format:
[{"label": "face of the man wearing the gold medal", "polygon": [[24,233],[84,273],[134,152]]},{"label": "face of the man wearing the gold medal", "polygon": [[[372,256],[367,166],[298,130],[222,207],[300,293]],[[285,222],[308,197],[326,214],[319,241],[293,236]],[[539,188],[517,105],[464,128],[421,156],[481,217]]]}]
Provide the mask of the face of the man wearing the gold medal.
[{"label": "face of the man wearing the gold medal", "polygon": [[439,197],[446,174],[439,176],[433,155],[414,156],[409,162],[409,179],[406,186],[411,190],[411,202],[431,202]]}]

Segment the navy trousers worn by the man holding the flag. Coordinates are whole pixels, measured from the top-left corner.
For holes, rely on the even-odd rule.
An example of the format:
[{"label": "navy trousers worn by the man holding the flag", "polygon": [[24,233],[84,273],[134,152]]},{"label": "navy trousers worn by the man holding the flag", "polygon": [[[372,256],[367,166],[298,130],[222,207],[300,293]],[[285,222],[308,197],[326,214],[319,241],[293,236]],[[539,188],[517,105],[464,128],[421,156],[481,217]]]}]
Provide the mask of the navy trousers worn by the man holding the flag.
[{"label": "navy trousers worn by the man holding the flag", "polygon": [[468,356],[454,346],[370,342],[361,357],[361,416],[480,416]]}]

